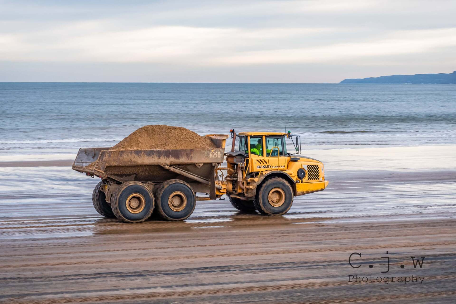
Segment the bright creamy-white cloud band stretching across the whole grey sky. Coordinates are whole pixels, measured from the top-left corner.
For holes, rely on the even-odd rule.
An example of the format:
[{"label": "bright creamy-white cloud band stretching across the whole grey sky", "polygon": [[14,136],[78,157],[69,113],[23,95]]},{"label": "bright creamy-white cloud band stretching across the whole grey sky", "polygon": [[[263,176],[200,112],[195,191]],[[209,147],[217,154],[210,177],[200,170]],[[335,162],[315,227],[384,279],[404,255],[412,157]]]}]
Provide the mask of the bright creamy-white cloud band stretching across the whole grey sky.
[{"label": "bright creamy-white cloud band stretching across the whole grey sky", "polygon": [[[109,22],[84,22],[19,36],[0,36],[7,60],[85,62],[182,62],[249,65],[328,62],[400,55],[455,46],[456,28],[396,31],[368,41],[281,48],[289,40],[334,35],[334,28],[204,28],[156,26],[106,31]],[[278,41],[282,43],[277,43]],[[288,42],[290,44],[290,42]]]}]

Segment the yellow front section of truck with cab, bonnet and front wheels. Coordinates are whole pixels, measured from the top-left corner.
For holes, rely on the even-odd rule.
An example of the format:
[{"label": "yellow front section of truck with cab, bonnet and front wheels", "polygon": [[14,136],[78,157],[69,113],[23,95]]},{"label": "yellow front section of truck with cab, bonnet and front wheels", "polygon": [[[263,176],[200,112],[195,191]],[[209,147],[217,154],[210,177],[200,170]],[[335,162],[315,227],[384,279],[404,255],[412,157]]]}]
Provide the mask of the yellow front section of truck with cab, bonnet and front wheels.
[{"label": "yellow front section of truck with cab, bonnet and front wheels", "polygon": [[[226,153],[229,174],[223,190],[237,209],[258,210],[268,215],[284,214],[294,196],[322,191],[328,185],[321,161],[299,156],[299,135],[290,132],[241,132],[236,135],[234,130],[231,133],[233,145]],[[287,151],[287,143],[290,148],[293,146],[292,153]],[[271,188],[269,184],[274,185]],[[268,193],[264,193],[266,190]]]}]

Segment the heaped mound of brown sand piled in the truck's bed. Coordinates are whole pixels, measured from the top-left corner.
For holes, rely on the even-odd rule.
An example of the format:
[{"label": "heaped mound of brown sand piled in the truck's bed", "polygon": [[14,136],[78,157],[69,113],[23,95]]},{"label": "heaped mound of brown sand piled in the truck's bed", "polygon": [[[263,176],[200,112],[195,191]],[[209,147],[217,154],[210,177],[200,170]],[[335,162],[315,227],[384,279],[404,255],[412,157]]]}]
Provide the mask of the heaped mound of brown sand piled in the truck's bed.
[{"label": "heaped mound of brown sand piled in the truck's bed", "polygon": [[200,136],[189,129],[163,124],[148,125],[137,129],[110,150],[155,149],[208,149],[215,148],[209,137]]}]

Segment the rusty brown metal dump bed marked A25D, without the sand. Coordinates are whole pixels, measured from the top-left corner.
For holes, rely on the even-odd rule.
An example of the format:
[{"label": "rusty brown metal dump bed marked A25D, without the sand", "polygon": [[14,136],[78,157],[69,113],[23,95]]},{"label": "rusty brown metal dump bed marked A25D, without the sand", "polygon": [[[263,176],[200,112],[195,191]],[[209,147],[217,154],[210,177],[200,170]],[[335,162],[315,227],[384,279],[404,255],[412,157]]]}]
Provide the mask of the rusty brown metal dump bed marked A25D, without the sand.
[{"label": "rusty brown metal dump bed marked A25D, without the sand", "polygon": [[224,145],[228,135],[212,134],[217,148],[109,150],[109,148],[81,148],[73,163],[73,170],[110,177],[121,182],[163,182],[173,178],[194,181],[195,175],[211,180],[216,165],[223,162]]}]

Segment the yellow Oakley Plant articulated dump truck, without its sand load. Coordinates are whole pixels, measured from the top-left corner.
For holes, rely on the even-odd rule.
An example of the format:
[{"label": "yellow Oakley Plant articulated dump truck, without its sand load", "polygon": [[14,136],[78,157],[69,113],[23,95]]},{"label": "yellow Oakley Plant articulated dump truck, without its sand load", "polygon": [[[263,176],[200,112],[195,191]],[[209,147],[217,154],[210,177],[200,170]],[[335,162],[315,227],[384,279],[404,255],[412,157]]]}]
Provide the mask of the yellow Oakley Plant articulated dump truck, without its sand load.
[{"label": "yellow Oakley Plant articulated dump truck, without its sand load", "polygon": [[[227,153],[229,135],[206,136],[216,148],[81,148],[73,170],[101,179],[92,196],[99,214],[129,223],[143,222],[152,213],[168,221],[185,220],[197,201],[225,195],[239,211],[282,215],[295,196],[328,185],[320,161],[298,156],[299,135],[242,132],[236,136],[231,130],[233,144]],[[287,153],[287,141],[294,146],[293,154]]]}]

